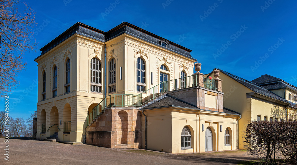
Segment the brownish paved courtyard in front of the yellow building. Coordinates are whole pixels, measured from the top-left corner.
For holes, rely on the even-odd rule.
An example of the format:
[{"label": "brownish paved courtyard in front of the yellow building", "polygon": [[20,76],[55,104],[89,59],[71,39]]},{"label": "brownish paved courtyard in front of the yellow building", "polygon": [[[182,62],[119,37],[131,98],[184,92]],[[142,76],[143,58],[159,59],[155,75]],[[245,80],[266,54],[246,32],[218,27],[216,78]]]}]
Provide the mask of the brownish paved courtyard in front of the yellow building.
[{"label": "brownish paved courtyard in front of the yellow building", "polygon": [[[4,147],[9,144],[9,161]],[[68,145],[38,140],[0,139],[0,164],[237,164],[252,160],[246,151],[168,154],[147,150],[118,150],[93,145]]]}]

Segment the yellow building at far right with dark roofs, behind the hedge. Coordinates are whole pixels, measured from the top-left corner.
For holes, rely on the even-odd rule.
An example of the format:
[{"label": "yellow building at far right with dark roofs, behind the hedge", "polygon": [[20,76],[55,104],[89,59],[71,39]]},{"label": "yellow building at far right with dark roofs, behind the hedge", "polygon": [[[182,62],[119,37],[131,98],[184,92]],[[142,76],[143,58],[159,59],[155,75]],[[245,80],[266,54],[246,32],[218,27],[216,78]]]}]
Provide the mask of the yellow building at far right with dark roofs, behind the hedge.
[{"label": "yellow building at far right with dark roofs, behind the hedge", "polygon": [[[218,70],[223,82],[224,107],[241,114],[241,119],[238,120],[239,149],[245,149],[245,129],[250,122],[296,119],[296,108],[291,102],[292,90],[296,89],[293,85],[270,75],[248,81],[221,69]],[[214,71],[207,76],[213,75]]]}]

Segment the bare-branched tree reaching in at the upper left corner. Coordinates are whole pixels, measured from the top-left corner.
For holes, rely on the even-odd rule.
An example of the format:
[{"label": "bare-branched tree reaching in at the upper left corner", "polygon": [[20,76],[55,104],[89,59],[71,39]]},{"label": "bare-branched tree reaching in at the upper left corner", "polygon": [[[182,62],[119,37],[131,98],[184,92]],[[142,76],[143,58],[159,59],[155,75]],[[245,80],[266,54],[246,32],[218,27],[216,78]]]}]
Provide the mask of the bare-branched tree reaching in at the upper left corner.
[{"label": "bare-branched tree reaching in at the upper left corner", "polygon": [[22,55],[36,49],[32,41],[35,13],[24,3],[24,13],[18,12],[19,1],[0,0],[0,96],[11,93],[18,85],[17,73],[25,66]]}]

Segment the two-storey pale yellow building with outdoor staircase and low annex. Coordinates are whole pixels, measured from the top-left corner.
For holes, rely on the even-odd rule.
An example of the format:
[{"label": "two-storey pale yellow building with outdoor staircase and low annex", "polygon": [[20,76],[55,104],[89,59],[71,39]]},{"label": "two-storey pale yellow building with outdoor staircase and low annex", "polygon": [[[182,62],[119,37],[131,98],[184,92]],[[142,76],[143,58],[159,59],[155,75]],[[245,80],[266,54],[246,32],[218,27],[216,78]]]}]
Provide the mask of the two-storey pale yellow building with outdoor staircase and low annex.
[{"label": "two-storey pale yellow building with outdoor staircase and low annex", "polygon": [[[169,153],[236,149],[240,114],[188,48],[123,22],[80,22],[40,49],[37,139]],[[196,73],[192,67],[195,63]]]}]

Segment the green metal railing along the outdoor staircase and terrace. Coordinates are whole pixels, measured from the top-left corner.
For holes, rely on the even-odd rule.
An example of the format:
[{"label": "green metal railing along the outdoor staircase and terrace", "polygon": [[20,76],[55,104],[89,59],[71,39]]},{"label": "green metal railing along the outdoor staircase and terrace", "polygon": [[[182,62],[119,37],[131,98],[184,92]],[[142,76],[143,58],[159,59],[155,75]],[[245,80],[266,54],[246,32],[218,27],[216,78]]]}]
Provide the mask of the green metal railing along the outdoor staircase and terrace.
[{"label": "green metal railing along the outdoor staircase and terrace", "polygon": [[[164,81],[138,95],[109,95],[102,99],[102,101],[91,111],[87,117],[87,125],[89,125],[93,120],[104,110],[106,107],[113,106],[142,106],[148,101],[160,96],[164,92],[178,90],[183,88],[189,88],[198,86],[198,76],[192,75],[188,77],[178,78],[175,80]],[[206,79],[206,78],[204,78]],[[208,80],[212,85],[206,85]],[[211,79],[205,80],[205,88],[216,90],[215,81]]]}]

